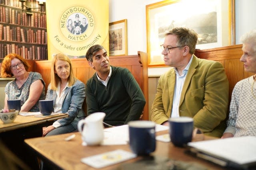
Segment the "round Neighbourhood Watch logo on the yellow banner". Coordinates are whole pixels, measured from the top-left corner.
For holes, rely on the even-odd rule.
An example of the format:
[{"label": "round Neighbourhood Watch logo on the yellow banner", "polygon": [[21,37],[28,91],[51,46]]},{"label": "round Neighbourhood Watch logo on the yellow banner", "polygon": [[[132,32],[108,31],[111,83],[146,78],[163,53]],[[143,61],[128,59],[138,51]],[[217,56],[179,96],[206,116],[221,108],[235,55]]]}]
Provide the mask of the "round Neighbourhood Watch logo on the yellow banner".
[{"label": "round Neighbourhood Watch logo on the yellow banner", "polygon": [[60,31],[71,41],[84,41],[94,30],[92,13],[81,6],[73,6],[66,10],[60,18]]}]

